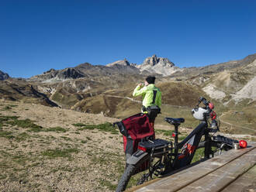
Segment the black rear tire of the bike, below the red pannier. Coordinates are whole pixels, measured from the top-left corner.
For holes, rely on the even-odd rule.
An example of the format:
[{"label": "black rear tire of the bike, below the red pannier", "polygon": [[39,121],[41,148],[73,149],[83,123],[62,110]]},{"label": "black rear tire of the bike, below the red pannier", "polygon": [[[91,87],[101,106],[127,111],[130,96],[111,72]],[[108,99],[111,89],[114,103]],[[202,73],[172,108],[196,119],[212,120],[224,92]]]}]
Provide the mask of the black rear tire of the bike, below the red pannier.
[{"label": "black rear tire of the bike, below the red pannier", "polygon": [[124,173],[123,173],[122,177],[120,178],[118,185],[116,187],[116,192],[121,192],[121,191],[126,190],[126,186],[130,181],[130,177],[133,176],[133,173],[135,172],[135,170],[136,170],[135,165],[128,164],[126,166],[126,170],[124,171]]}]

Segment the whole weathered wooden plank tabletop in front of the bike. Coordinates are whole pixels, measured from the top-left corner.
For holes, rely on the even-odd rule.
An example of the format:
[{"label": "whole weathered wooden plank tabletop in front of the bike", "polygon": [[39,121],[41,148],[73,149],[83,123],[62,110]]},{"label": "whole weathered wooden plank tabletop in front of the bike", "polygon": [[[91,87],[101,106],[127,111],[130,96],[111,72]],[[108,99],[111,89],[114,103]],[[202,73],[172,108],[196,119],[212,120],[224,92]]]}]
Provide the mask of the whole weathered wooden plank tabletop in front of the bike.
[{"label": "whole weathered wooden plank tabletop in front of the bike", "polygon": [[249,144],[247,149],[232,149],[221,156],[127,191],[256,192],[256,144]]}]

